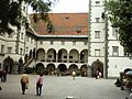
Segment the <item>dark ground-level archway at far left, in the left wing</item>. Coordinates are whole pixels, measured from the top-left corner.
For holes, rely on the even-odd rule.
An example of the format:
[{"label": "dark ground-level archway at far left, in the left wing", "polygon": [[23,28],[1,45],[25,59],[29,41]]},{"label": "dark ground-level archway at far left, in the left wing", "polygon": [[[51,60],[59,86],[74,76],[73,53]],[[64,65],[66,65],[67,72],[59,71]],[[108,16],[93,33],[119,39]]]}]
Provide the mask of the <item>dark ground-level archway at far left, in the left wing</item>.
[{"label": "dark ground-level archway at far left, in the left wing", "polygon": [[4,61],[3,61],[3,69],[7,73],[11,74],[12,70],[13,70],[13,66],[14,66],[14,61],[10,56],[4,58]]}]

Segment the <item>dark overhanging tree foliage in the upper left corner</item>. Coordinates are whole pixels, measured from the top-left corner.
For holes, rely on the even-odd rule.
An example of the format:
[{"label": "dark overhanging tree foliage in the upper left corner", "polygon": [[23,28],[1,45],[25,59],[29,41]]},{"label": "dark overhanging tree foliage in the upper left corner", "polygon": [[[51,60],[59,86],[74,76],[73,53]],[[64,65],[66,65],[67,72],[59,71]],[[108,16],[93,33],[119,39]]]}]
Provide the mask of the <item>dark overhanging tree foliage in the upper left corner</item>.
[{"label": "dark overhanging tree foliage in the upper left corner", "polygon": [[[56,0],[52,0],[56,1]],[[52,2],[51,0],[0,0],[0,33],[12,33],[11,25],[21,28],[21,24],[24,23],[25,28],[29,28],[26,16],[22,14],[22,4],[23,2],[26,6],[31,6],[34,13],[34,22],[37,22],[40,19],[43,19],[47,24],[52,22],[48,19],[47,12],[51,11]],[[36,14],[37,13],[37,14]]]}]

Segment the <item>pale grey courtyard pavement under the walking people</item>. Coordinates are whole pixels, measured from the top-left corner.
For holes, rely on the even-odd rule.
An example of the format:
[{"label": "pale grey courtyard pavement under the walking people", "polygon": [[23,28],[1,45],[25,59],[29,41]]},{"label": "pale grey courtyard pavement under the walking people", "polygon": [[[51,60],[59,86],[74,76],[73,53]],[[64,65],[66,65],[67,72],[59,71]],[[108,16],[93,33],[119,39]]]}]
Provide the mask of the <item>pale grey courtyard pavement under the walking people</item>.
[{"label": "pale grey courtyard pavement under the walking people", "polygon": [[35,96],[36,75],[29,75],[30,84],[25,95],[21,94],[21,75],[8,75],[7,82],[0,82],[0,99],[125,99],[129,92],[114,86],[116,79],[95,79],[70,76],[44,76],[43,94]]}]

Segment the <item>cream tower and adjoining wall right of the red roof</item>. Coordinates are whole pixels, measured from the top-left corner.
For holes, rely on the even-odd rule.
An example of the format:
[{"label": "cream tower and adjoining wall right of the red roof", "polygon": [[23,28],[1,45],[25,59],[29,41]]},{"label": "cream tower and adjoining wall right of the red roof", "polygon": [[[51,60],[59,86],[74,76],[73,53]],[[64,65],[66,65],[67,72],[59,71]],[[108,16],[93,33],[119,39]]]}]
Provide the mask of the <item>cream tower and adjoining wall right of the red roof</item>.
[{"label": "cream tower and adjoining wall right of the red roof", "polygon": [[105,78],[119,77],[120,72],[132,68],[132,61],[123,52],[118,33],[105,18],[105,3],[106,0],[89,0],[88,65],[101,70]]}]

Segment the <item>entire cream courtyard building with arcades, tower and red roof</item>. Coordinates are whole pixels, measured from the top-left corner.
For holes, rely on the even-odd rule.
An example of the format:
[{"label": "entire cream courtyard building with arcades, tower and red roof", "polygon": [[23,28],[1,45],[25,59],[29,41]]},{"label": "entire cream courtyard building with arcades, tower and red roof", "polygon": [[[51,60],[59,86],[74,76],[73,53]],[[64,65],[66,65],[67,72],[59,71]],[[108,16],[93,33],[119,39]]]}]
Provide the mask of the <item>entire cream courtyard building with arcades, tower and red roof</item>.
[{"label": "entire cream courtyard building with arcades, tower and red roof", "polygon": [[[21,25],[11,34],[0,35],[0,69],[22,73],[26,68],[103,78],[119,77],[131,68],[132,61],[123,52],[116,29],[107,20],[106,0],[89,0],[88,13],[48,13],[53,29],[44,21],[34,23],[33,14],[25,13],[30,28]],[[25,8],[25,4],[22,6]]]}]

